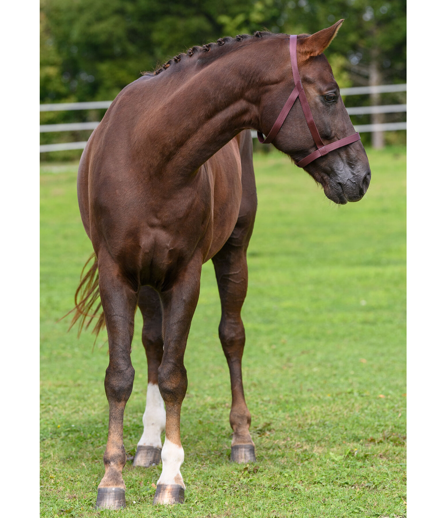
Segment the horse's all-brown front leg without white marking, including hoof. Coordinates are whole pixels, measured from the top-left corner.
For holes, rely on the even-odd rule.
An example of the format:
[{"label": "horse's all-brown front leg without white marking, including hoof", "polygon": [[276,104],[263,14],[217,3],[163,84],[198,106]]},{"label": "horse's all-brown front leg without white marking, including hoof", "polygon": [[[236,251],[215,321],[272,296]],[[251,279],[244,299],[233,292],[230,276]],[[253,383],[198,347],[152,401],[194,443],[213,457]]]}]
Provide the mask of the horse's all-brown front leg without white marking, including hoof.
[{"label": "horse's all-brown front leg without white marking, including hoof", "polygon": [[135,369],[130,359],[138,295],[134,287],[106,254],[99,254],[99,293],[107,325],[109,364],[105,393],[109,405],[108,440],[104,453],[105,474],[97,491],[96,507],[125,507],[122,468],[126,462],[123,444],[125,404],[132,393]]}]

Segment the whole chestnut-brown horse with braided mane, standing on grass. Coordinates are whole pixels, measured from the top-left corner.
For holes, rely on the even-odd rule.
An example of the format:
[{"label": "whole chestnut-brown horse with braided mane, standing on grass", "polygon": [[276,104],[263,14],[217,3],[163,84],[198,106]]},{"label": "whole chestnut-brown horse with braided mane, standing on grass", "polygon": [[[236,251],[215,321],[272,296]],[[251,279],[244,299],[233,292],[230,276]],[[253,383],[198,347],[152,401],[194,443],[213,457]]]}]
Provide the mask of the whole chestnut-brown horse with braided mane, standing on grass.
[{"label": "whole chestnut-brown horse with braided mane, standing on grass", "polygon": [[[329,143],[353,130],[323,54],[342,21],[294,36],[290,45],[316,132]],[[202,265],[210,259],[231,376],[231,459],[255,460],[243,394],[240,318],[257,205],[250,128],[267,135],[293,89],[290,41],[289,35],[266,31],[220,38],[143,73],[114,99],[82,153],[78,202],[94,254],[93,265],[81,275],[73,323],[89,319],[88,325],[98,317],[94,330],[106,326],[109,347],[109,425],[98,509],[125,507],[123,415],[134,381],[137,307],[148,386],[134,465],[161,459],[153,503],[184,502],[180,412],[188,379],[183,358]],[[315,148],[303,106],[294,103],[272,140],[295,164]],[[319,155],[305,170],[330,200],[345,204],[364,196],[370,167],[360,140]]]}]

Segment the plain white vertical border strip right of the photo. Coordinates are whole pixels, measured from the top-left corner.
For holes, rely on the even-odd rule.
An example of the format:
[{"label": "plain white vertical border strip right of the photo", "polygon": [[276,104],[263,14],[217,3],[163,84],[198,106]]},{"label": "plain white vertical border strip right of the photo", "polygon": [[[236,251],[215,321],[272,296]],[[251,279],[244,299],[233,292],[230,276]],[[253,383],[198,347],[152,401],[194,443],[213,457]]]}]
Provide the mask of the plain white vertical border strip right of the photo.
[{"label": "plain white vertical border strip right of the photo", "polygon": [[[408,516],[443,516],[444,2],[408,6]],[[422,84],[422,86],[421,86]]]}]

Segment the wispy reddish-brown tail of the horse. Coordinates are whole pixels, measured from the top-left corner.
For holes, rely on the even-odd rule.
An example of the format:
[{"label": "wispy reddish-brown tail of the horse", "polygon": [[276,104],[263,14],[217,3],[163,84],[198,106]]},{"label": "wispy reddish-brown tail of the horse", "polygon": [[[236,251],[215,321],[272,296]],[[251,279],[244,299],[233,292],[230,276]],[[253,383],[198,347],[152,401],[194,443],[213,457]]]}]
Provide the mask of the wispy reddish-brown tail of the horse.
[{"label": "wispy reddish-brown tail of the horse", "polygon": [[[92,266],[85,271],[89,263],[93,260]],[[99,334],[105,326],[104,311],[99,296],[99,274],[97,271],[97,258],[93,253],[88,258],[80,274],[80,283],[75,294],[75,307],[70,311],[75,312],[69,329],[79,321],[78,337],[82,329],[87,329],[94,319],[97,319],[92,333]],[[68,313],[69,314],[69,313]],[[69,330],[68,329],[68,330]]]}]

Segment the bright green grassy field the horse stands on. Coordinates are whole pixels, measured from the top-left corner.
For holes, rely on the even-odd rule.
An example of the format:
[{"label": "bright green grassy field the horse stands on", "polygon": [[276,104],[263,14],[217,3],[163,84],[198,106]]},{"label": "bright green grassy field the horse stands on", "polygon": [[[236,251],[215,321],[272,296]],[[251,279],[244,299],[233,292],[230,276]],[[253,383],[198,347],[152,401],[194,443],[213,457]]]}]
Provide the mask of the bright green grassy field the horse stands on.
[{"label": "bright green grassy field the horse stands on", "polygon": [[[77,208],[76,167],[42,168],[42,516],[406,516],[406,149],[368,154],[369,191],[342,207],[278,152],[254,157],[258,212],[242,316],[255,465],[229,462],[231,390],[209,262],[185,355],[186,501],[152,507],[161,466],[127,463],[126,509],[100,513],[105,335],[93,349],[91,335],[78,340],[67,320],[57,321],[73,305],[91,244]],[[147,383],[140,332],[138,312],[124,418],[131,454]]]}]

